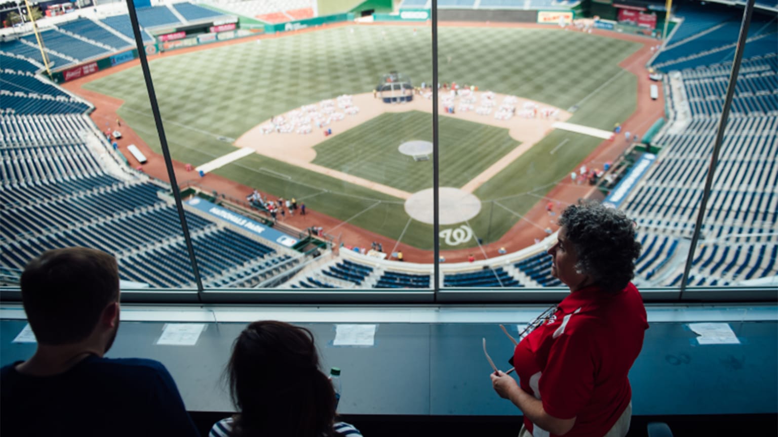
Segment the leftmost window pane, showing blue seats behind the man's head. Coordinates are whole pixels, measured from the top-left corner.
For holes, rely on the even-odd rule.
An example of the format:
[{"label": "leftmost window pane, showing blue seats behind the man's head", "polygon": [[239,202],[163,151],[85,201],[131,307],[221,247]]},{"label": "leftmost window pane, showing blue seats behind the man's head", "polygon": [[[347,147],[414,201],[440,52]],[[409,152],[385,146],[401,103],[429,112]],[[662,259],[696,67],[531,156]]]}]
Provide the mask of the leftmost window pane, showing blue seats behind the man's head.
[{"label": "leftmost window pane, showing blue seats behind the man's head", "polygon": [[89,246],[117,258],[123,289],[193,288],[165,165],[146,145],[156,129],[140,123],[142,72],[119,65],[132,58],[129,29],[126,14],[41,19],[56,85],[33,33],[2,44],[2,267],[13,274],[44,250]]}]

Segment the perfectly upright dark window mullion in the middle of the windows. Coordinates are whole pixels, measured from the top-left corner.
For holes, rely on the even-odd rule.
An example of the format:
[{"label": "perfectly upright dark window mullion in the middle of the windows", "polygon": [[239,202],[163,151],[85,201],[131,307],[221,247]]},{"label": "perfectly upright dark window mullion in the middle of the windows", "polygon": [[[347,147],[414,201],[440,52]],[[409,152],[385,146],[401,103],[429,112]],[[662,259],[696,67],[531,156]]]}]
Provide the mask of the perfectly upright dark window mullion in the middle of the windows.
[{"label": "perfectly upright dark window mullion in the middle of the windows", "polygon": [[435,301],[440,292],[440,135],[438,132],[437,0],[432,0],[433,26],[433,284]]}]

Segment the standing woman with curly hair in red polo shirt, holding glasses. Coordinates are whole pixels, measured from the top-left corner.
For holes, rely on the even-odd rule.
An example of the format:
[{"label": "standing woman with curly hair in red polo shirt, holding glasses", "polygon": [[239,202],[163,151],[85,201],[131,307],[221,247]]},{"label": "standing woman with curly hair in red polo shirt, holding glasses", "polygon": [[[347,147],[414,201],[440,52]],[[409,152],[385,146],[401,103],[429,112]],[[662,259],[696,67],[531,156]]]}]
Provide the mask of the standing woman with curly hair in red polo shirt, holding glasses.
[{"label": "standing woman with curly hair in red polo shirt, holding glasses", "polygon": [[624,213],[597,203],[570,205],[559,225],[548,254],[570,295],[513,352],[520,385],[497,372],[492,386],[524,413],[519,437],[624,437],[632,417],[627,374],[648,328],[630,282],[640,243]]}]

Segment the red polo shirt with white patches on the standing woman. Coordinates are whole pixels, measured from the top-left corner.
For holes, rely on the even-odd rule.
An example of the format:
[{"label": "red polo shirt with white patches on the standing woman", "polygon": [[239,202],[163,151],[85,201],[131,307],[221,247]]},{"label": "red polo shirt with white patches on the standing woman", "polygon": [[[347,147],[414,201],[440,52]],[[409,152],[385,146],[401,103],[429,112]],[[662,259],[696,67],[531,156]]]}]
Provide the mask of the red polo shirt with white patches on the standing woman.
[{"label": "red polo shirt with white patches on the standing woman", "polygon": [[[597,286],[573,292],[513,352],[521,389],[555,418],[576,418],[565,437],[601,437],[632,400],[627,374],[647,329],[632,283],[611,295]],[[534,437],[550,435],[526,416],[524,425]]]}]

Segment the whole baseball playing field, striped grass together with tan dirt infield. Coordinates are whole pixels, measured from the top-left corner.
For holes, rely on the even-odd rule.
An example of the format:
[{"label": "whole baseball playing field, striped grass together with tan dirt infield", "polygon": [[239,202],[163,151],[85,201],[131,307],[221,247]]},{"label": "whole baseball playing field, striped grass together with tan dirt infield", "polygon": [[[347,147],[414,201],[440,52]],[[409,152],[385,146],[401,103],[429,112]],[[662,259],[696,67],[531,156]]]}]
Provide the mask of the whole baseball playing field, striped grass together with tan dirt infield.
[{"label": "whole baseball playing field, striped grass together with tan dirt infield", "polygon": [[[416,34],[409,26],[326,26],[152,58],[173,159],[201,166],[221,158],[212,175],[302,199],[310,210],[349,226],[430,250],[432,225],[409,216],[404,205],[432,187],[432,163],[415,161],[398,147],[432,139],[431,102],[416,95],[412,102],[390,105],[373,96],[387,72],[402,72],[415,87],[429,86],[429,32],[429,27]],[[477,86],[477,96],[496,93],[497,106],[515,96],[555,111],[554,117],[504,122],[475,110],[440,117],[441,186],[457,187],[481,202],[466,222],[450,225],[467,226],[472,237],[441,238],[441,247],[496,242],[518,222],[544,235],[546,223],[524,216],[601,145],[602,138],[580,131],[610,130],[636,109],[637,78],[619,63],[645,45],[640,37],[524,25],[447,25],[439,36],[441,84]],[[82,86],[123,100],[117,114],[159,152],[142,81],[140,68],[117,68]],[[353,96],[359,122],[346,115],[308,135],[257,131],[274,117],[344,95]],[[581,129],[554,128],[559,121]],[[325,138],[325,129],[333,135]],[[238,139],[230,144],[223,138]],[[256,153],[224,159],[236,146]],[[554,153],[560,147],[564,153]],[[206,175],[199,184],[208,187],[208,180]]]}]

